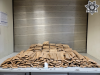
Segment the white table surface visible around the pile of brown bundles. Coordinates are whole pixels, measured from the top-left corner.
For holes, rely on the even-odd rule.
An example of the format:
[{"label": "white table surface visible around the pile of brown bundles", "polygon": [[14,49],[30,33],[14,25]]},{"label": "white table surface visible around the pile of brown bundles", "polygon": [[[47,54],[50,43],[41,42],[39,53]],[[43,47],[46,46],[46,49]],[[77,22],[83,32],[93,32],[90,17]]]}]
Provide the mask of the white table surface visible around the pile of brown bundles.
[{"label": "white table surface visible around the pile of brown bundles", "polygon": [[[18,52],[14,52],[2,59],[0,59],[0,64],[5,61],[7,58],[13,57],[16,54],[18,54]],[[87,56],[91,59],[93,59],[94,61],[96,61],[98,64],[100,64],[100,60],[94,58],[93,56],[87,54],[87,53],[80,53],[84,56]],[[8,68],[8,69],[3,69],[0,68],[0,72],[62,72],[62,73],[100,73],[100,68],[80,68],[80,67],[68,67],[68,68],[48,68],[48,69],[44,69],[44,68],[16,68],[16,69],[12,69],[12,68]]]}]

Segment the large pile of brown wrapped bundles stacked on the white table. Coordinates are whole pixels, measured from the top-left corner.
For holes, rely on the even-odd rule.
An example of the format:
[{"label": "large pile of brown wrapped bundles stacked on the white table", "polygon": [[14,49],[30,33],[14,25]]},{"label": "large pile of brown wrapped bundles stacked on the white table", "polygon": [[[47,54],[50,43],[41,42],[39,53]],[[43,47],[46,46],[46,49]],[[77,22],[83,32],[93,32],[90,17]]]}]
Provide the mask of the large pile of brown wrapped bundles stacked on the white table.
[{"label": "large pile of brown wrapped bundles stacked on the white table", "polygon": [[33,44],[26,51],[21,51],[12,58],[8,58],[1,64],[2,68],[43,68],[44,63],[48,63],[49,68],[53,67],[94,67],[100,68],[92,59],[82,56],[77,51],[72,50],[66,44],[53,44],[49,41],[43,44]]}]

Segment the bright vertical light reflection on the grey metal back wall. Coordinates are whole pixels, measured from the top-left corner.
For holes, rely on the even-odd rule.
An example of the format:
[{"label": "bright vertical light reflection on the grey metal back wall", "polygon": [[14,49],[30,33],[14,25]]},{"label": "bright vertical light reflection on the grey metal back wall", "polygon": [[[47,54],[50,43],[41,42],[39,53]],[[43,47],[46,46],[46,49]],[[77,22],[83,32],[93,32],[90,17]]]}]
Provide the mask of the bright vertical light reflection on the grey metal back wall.
[{"label": "bright vertical light reflection on the grey metal back wall", "polygon": [[[46,25],[45,25],[46,17],[45,17],[45,15],[46,15],[46,13],[45,13],[45,7],[43,6],[44,4],[45,4],[44,1],[42,1],[42,5],[41,5],[42,9],[40,9],[40,8],[36,9],[35,7],[33,7],[34,12],[37,13],[37,15],[35,15],[33,13],[33,19],[36,19],[35,24],[39,24],[39,25],[35,25],[38,43],[43,43],[43,41],[45,41],[45,33],[46,33],[46,31],[45,31],[45,28],[46,28]],[[36,7],[38,7],[38,6],[39,5],[36,5]],[[36,18],[34,18],[34,16],[36,16]],[[40,32],[42,32],[42,34],[40,34]],[[44,35],[44,36],[42,36],[42,39],[41,39],[40,35]]]}]

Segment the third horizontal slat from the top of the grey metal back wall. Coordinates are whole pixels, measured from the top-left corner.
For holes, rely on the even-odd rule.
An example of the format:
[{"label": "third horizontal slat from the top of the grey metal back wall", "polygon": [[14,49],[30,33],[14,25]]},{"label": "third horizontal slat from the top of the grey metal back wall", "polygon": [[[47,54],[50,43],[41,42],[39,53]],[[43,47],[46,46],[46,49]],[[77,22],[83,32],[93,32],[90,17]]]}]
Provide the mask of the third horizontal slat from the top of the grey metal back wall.
[{"label": "third horizontal slat from the top of the grey metal back wall", "polygon": [[50,12],[20,12],[20,13],[15,13],[14,16],[16,17],[15,19],[32,19],[32,18],[55,18],[55,17],[86,17],[86,13],[79,11],[79,12],[74,12],[74,11],[66,11],[66,12],[60,12],[60,11],[50,11]]}]

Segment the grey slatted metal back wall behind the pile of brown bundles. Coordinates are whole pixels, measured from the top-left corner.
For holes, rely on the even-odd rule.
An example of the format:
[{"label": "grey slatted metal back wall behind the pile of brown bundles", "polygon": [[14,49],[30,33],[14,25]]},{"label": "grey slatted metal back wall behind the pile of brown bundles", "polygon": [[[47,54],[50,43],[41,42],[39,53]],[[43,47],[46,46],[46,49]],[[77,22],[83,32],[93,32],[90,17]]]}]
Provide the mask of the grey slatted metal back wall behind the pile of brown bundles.
[{"label": "grey slatted metal back wall behind the pile of brown bundles", "polygon": [[14,0],[15,51],[31,44],[68,44],[86,52],[88,0]]}]

